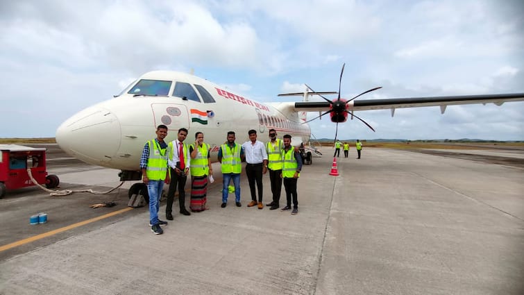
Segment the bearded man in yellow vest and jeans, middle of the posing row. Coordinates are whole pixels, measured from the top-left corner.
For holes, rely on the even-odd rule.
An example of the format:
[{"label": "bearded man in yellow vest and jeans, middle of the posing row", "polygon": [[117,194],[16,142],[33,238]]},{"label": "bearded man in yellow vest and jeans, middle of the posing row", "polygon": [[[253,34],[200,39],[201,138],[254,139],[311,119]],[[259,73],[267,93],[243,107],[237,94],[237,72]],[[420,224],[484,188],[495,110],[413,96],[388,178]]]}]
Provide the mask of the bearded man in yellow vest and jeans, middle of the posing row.
[{"label": "bearded man in yellow vest and jeans, middle of the posing row", "polygon": [[222,170],[222,208],[228,205],[229,183],[233,179],[235,185],[235,204],[240,203],[240,172],[242,172],[242,160],[244,160],[244,149],[235,143],[235,132],[228,132],[228,142],[222,144],[219,149],[219,162]]}]

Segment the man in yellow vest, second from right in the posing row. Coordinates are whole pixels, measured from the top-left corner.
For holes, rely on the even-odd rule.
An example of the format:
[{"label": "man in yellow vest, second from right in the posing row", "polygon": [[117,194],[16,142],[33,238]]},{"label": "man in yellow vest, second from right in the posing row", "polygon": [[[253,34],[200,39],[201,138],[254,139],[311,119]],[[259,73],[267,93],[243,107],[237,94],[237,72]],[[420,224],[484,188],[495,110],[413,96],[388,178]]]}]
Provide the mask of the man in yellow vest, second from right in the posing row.
[{"label": "man in yellow vest, second from right in the posing row", "polygon": [[284,149],[284,142],[276,138],[276,130],[269,129],[269,138],[271,140],[266,144],[267,160],[269,169],[269,181],[271,182],[271,193],[273,194],[273,201],[266,204],[269,210],[275,210],[280,206],[280,192],[282,191],[282,150]]}]

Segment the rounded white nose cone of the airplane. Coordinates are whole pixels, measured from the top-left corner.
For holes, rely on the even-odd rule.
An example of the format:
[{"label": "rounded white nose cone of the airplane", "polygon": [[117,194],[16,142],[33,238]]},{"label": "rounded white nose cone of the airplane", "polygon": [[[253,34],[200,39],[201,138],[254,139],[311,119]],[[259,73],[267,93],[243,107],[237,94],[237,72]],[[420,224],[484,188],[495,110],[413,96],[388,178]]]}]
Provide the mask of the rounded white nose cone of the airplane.
[{"label": "rounded white nose cone of the airplane", "polygon": [[99,107],[78,112],[56,130],[56,142],[63,151],[94,165],[103,165],[115,158],[120,139],[117,117]]}]

